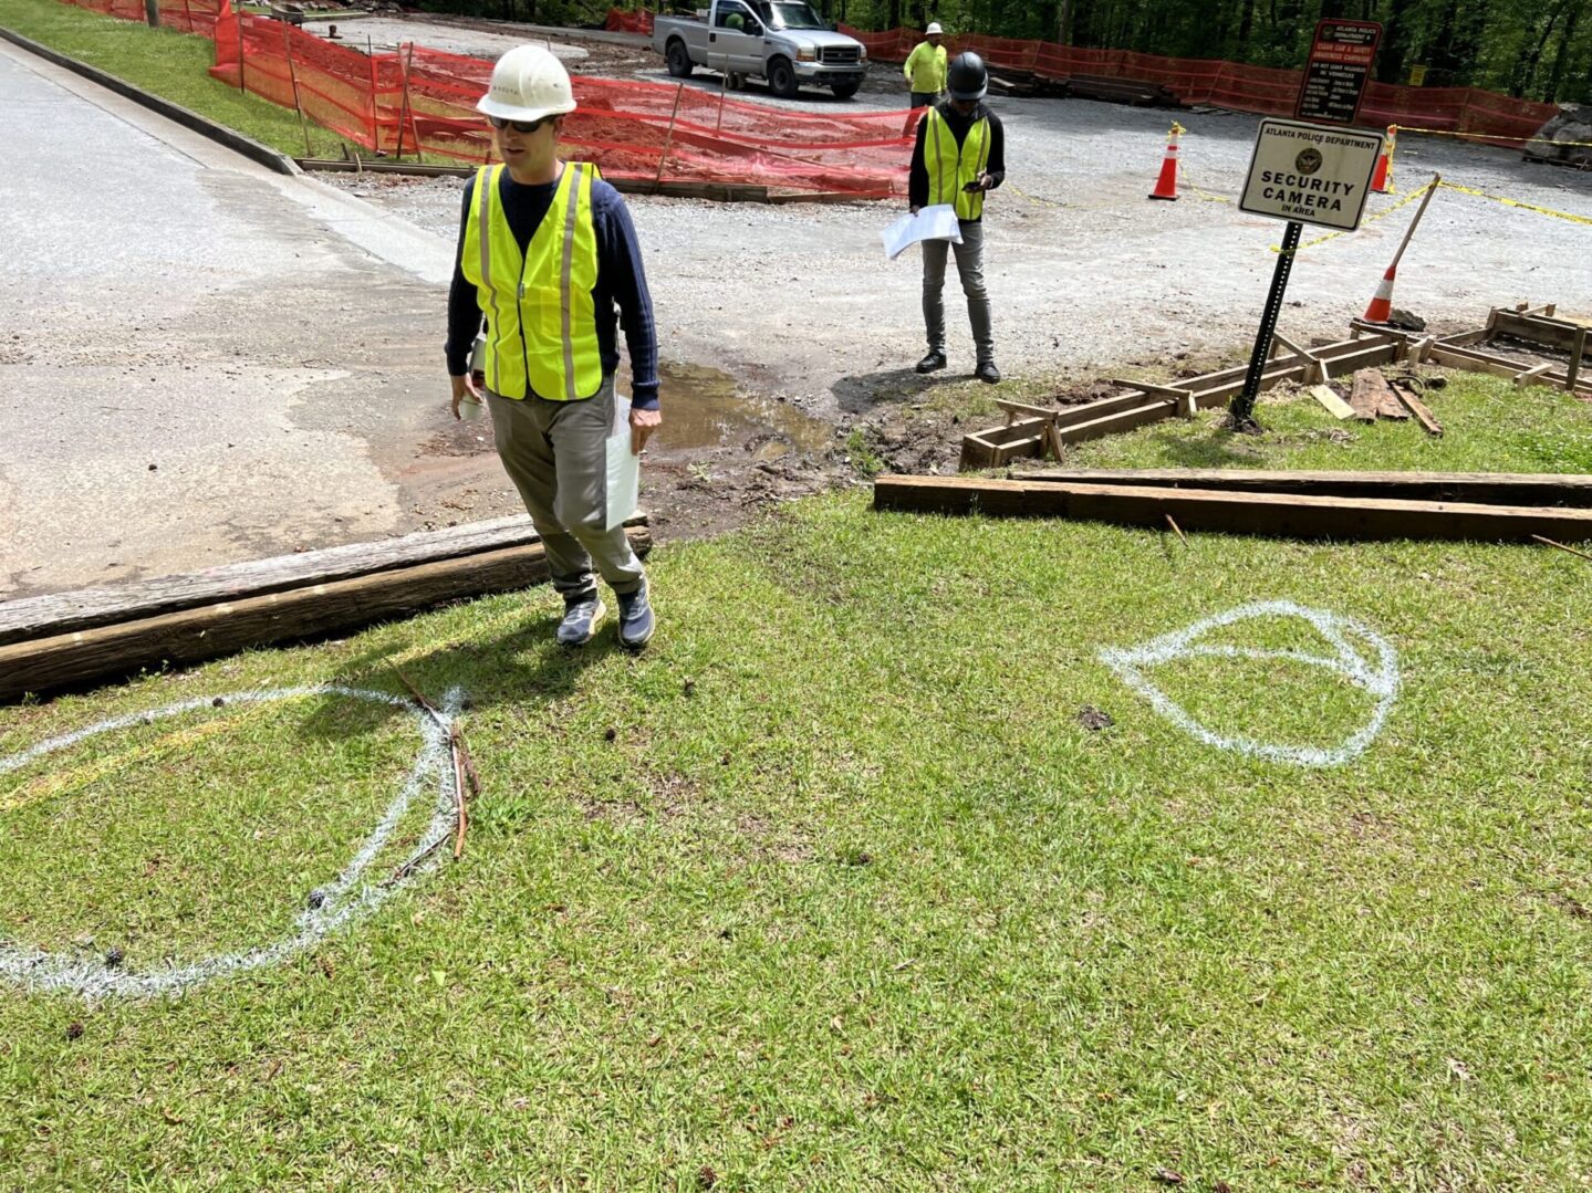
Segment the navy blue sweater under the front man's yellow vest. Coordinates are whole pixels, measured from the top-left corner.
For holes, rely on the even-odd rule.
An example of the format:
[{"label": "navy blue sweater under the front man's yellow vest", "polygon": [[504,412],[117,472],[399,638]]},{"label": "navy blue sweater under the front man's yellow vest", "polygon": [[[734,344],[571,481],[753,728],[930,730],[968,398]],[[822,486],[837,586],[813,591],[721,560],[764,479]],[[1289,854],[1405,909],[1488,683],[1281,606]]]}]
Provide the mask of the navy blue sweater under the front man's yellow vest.
[{"label": "navy blue sweater under the front man's yellow vest", "polygon": [[[470,369],[470,348],[481,329],[481,305],[476,286],[462,267],[465,226],[470,223],[470,199],[476,180],[465,183],[465,210],[458,221],[458,253],[454,258],[454,285],[447,291],[447,372],[462,377]],[[498,200],[508,216],[509,231],[519,251],[530,247],[543,216],[552,205],[557,183],[525,186],[503,170]],[[616,315],[624,321],[624,344],[630,352],[630,402],[638,410],[657,409],[657,329],[653,326],[653,296],[646,293],[642,269],[642,247],[624,199],[605,181],[592,183],[592,226],[597,234],[597,285],[592,305],[597,310],[597,348],[605,374],[619,367]]]}]

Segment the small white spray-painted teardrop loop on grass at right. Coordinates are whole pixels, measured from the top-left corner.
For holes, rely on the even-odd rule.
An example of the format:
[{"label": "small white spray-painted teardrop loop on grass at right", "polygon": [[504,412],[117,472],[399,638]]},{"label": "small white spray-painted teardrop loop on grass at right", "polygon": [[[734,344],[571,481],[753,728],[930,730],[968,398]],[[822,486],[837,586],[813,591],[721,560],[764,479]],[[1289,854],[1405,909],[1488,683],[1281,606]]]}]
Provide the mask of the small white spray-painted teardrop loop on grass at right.
[{"label": "small white spray-painted teardrop loop on grass at right", "polygon": [[[1320,631],[1321,638],[1333,647],[1333,652],[1309,654],[1305,651],[1267,651],[1248,646],[1227,646],[1224,643],[1200,643],[1200,638],[1212,630],[1219,630],[1221,627],[1251,617],[1301,617]],[[1350,641],[1350,636],[1369,646],[1375,654],[1375,662],[1368,662],[1361,647]],[[1188,709],[1145,678],[1145,668],[1169,663],[1173,659],[1286,659],[1296,663],[1310,663],[1340,674],[1348,682],[1364,689],[1377,703],[1371,711],[1369,721],[1331,749],[1224,736],[1202,725]],[[1100,660],[1116,671],[1129,687],[1149,700],[1161,716],[1205,744],[1272,762],[1291,762],[1299,767],[1337,767],[1364,754],[1377,733],[1382,732],[1382,725],[1393,709],[1393,701],[1398,698],[1399,686],[1398,654],[1395,654],[1391,644],[1382,635],[1369,625],[1356,622],[1353,617],[1344,617],[1325,609],[1309,609],[1293,601],[1243,604],[1196,622],[1186,630],[1153,638],[1141,646],[1103,647]]]}]

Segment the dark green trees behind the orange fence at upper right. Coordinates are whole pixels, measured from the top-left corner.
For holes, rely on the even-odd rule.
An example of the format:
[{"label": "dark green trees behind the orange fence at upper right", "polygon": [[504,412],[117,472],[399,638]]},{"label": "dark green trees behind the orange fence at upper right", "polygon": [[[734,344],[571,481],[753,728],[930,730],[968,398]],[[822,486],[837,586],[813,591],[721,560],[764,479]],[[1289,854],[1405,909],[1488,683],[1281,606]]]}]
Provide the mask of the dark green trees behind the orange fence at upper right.
[{"label": "dark green trees behind the orange fence at upper right", "polygon": [[829,8],[860,29],[941,21],[954,32],[1288,68],[1304,64],[1317,19],[1380,21],[1377,73],[1387,83],[1423,65],[1430,87],[1592,100],[1586,0],[833,0]]}]

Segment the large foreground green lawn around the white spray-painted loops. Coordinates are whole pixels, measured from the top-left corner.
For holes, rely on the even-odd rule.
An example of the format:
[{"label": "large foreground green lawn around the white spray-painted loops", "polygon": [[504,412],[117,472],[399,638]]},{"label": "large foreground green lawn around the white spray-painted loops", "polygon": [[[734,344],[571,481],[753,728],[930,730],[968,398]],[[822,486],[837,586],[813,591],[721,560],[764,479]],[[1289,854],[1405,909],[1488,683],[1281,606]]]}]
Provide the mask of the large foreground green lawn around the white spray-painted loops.
[{"label": "large foreground green lawn around the white spray-painted loops", "polygon": [[[1110,464],[1592,468],[1592,407],[1461,379],[1417,428],[1267,406]],[[1414,436],[1411,431],[1414,429]],[[175,999],[0,986],[0,1185],[1543,1188],[1592,1179],[1592,563],[879,515],[665,544],[662,628],[564,654],[548,590],[0,711],[0,756],[253,687],[465,724],[463,861]],[[1194,740],[1102,663],[1258,600],[1398,652],[1333,768]],[[1242,630],[1242,627],[1240,627]],[[1296,620],[1216,641],[1320,651]],[[1156,681],[1329,746],[1286,659]],[[1091,730],[1086,708],[1114,724]],[[210,708],[0,775],[0,940],[126,972],[280,935],[401,784],[408,713]],[[412,816],[369,873],[417,840]]]}]

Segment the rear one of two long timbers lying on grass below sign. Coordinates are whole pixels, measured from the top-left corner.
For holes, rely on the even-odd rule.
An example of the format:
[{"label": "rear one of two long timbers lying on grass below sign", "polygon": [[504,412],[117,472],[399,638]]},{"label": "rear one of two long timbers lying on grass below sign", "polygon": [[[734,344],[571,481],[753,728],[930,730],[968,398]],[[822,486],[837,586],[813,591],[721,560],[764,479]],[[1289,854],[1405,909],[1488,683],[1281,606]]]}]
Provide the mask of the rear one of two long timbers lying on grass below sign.
[{"label": "rear one of two long timbers lying on grass below sign", "polygon": [[1592,474],[1559,472],[1293,472],[1259,468],[1048,468],[1013,480],[1067,485],[1151,485],[1224,492],[1380,496],[1495,506],[1592,509]]}]

